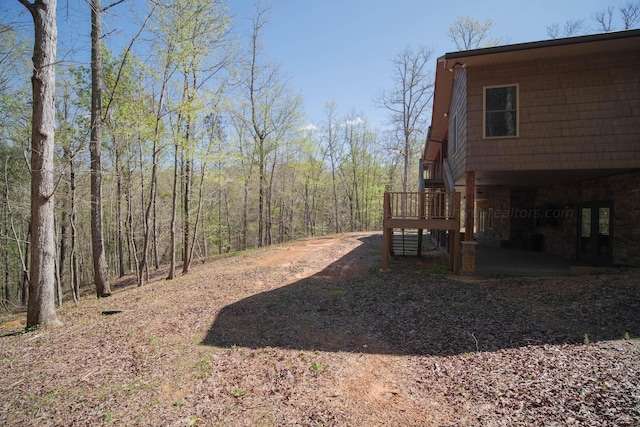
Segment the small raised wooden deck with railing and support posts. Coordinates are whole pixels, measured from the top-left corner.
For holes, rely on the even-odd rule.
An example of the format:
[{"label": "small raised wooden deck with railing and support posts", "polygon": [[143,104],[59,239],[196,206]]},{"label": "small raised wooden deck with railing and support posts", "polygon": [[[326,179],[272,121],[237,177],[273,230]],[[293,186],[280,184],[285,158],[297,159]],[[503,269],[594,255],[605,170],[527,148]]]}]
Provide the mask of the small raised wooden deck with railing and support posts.
[{"label": "small raised wooden deck with railing and support posts", "polygon": [[[418,230],[421,242],[423,230],[449,231],[447,249],[453,272],[460,267],[460,193],[421,191],[384,194],[382,270],[389,268],[394,229]],[[421,246],[417,255],[421,256]]]}]

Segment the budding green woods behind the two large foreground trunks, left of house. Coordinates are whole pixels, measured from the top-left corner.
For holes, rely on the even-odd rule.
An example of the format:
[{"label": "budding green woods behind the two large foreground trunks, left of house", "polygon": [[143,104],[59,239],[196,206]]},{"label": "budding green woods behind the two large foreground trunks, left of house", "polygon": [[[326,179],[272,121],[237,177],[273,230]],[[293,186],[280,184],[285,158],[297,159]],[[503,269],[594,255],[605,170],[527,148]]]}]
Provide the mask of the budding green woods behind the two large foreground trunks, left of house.
[{"label": "budding green woods behind the two large foreground trunks, left of house", "polygon": [[[121,51],[100,44],[99,99],[95,69],[58,52],[56,304],[96,280],[94,220],[102,296],[109,280],[135,273],[143,285],[161,265],[173,277],[221,254],[380,228],[383,192],[403,180],[399,150],[366,117],[339,117],[335,102],[306,126],[301,96],[264,55],[268,9],[256,7],[250,33],[236,37],[218,1],[148,7]],[[33,29],[0,31],[0,304],[10,310],[28,297],[34,42]],[[153,55],[136,54],[145,50]]]}]

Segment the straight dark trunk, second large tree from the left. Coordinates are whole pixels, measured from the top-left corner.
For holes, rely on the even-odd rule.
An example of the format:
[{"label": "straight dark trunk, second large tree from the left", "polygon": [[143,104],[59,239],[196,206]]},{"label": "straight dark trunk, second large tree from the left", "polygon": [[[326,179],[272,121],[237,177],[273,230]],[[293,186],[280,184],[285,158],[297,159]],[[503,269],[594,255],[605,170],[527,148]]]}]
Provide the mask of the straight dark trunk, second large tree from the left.
[{"label": "straight dark trunk, second large tree from the left", "polygon": [[102,232],[102,6],[91,0],[91,247],[98,298],[111,295]]}]

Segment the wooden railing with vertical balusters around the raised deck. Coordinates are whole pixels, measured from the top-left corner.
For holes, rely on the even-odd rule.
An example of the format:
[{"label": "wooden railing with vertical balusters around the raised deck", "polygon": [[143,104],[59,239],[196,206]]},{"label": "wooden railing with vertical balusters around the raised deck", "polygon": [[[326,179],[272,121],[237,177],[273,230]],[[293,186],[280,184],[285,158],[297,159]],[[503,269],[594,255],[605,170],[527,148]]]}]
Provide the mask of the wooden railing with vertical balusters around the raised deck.
[{"label": "wooden railing with vertical balusters around the raised deck", "polygon": [[385,219],[456,219],[455,192],[421,191],[384,194]]}]

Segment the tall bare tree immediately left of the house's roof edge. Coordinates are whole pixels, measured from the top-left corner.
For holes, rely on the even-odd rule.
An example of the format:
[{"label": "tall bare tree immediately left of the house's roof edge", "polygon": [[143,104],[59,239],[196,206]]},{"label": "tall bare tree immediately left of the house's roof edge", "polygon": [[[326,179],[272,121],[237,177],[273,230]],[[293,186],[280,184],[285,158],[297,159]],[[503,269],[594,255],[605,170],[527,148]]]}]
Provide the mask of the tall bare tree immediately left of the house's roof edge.
[{"label": "tall bare tree immediately left of the house's roof edge", "polygon": [[399,144],[393,147],[404,160],[402,191],[408,191],[410,159],[426,130],[426,115],[433,97],[433,76],[429,73],[433,51],[420,46],[416,51],[406,47],[392,60],[394,86],[383,91],[376,103],[386,108],[391,123],[399,135]]}]

